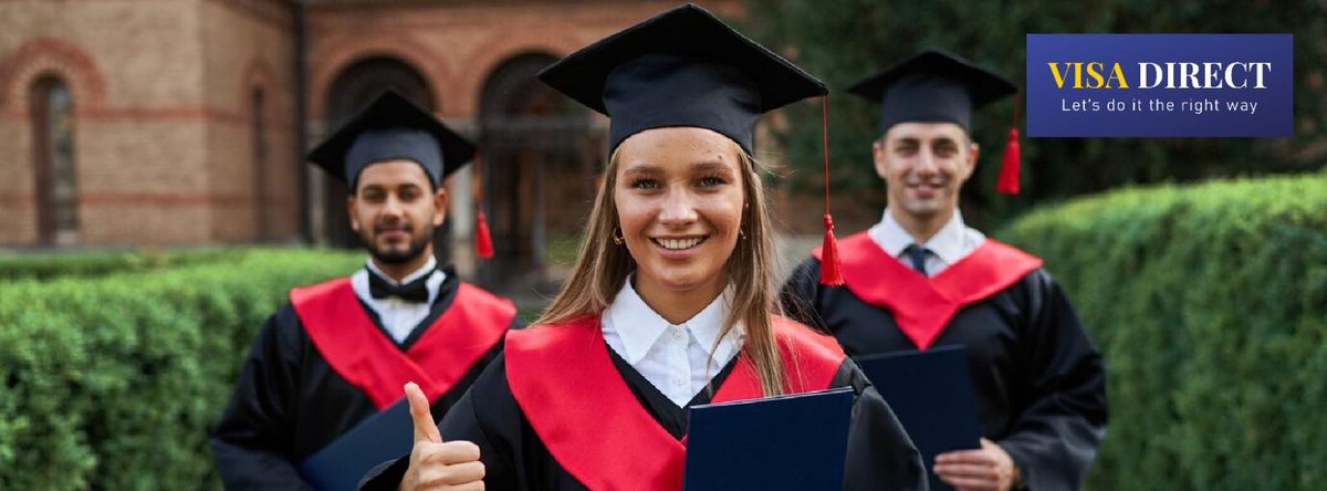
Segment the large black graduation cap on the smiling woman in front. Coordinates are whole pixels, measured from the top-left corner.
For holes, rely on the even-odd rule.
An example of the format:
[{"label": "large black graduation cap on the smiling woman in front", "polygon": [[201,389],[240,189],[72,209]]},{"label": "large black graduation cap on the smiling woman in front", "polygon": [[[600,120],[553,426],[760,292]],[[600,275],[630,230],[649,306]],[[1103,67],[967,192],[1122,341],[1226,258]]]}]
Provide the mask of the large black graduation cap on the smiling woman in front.
[{"label": "large black graduation cap on the smiling woman in front", "polygon": [[686,4],[549,65],[539,80],[609,117],[609,150],[642,130],[697,126],[751,153],[756,118],[829,90],[792,62]]}]

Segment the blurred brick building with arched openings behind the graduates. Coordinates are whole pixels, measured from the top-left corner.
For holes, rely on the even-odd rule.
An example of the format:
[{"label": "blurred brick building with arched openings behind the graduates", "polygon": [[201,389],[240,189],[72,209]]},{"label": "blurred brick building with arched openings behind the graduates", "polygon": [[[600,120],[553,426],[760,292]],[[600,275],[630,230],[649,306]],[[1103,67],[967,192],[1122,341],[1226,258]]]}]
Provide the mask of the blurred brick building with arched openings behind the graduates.
[{"label": "blurred brick building with arched openings behind the graduates", "polygon": [[472,259],[475,166],[439,255],[516,280],[572,247],[604,159],[605,119],[535,73],[674,4],[0,1],[0,246],[356,247],[344,186],[303,154],[391,88],[480,143],[498,257]]}]

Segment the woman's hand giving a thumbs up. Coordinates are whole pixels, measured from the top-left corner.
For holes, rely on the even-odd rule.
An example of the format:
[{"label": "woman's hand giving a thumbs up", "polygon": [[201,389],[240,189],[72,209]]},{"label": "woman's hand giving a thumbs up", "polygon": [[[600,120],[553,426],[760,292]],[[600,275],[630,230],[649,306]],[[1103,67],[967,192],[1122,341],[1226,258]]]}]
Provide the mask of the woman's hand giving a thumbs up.
[{"label": "woman's hand giving a thumbs up", "polygon": [[464,441],[443,442],[429,411],[429,398],[414,382],[406,384],[406,399],[410,401],[415,446],[401,490],[483,490],[484,463],[479,462],[479,446]]}]

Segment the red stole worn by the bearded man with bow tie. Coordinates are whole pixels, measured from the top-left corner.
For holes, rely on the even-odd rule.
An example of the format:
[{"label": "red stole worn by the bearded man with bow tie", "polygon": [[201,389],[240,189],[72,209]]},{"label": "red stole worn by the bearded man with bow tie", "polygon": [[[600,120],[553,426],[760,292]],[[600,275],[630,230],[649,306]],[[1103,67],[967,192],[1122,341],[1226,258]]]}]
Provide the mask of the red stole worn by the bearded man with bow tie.
[{"label": "red stole worn by the bearded man with bow tie", "polygon": [[446,394],[516,316],[510,300],[460,283],[447,312],[401,352],[373,325],[348,277],[291,289],[291,304],[328,365],[380,410],[405,397],[406,382],[419,384],[429,401]]}]

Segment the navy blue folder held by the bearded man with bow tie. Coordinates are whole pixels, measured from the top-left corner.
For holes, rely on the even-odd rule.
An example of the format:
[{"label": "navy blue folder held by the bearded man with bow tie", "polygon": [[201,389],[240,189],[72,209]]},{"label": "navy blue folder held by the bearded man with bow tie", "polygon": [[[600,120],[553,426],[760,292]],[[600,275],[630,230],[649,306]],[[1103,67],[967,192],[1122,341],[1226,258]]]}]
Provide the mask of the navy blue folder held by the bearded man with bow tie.
[{"label": "navy blue folder held by the bearded man with bow tie", "polygon": [[405,398],[356,425],[300,462],[300,476],[314,490],[354,490],[360,479],[380,463],[414,449],[414,422]]}]

